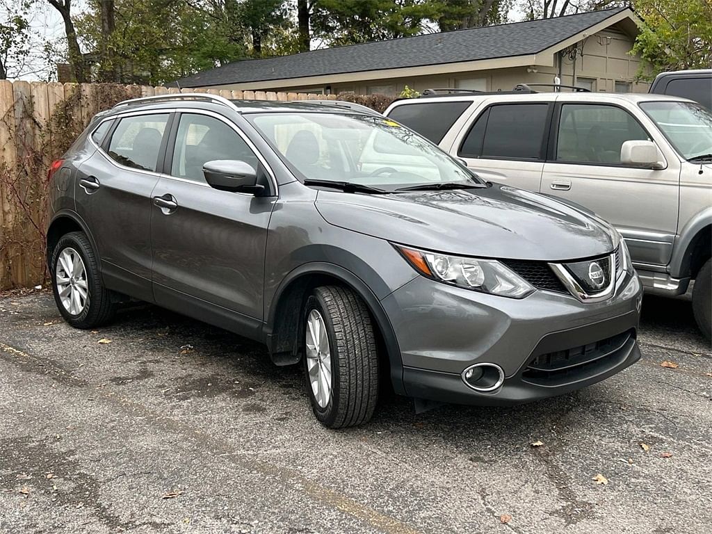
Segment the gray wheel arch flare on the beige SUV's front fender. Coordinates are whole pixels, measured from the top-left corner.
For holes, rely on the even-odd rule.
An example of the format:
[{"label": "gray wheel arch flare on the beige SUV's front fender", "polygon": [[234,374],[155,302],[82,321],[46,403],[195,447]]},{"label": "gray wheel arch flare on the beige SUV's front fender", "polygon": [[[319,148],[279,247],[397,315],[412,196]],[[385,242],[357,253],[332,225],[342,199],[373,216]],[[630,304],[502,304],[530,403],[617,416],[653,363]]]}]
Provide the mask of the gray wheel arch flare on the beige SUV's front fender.
[{"label": "gray wheel arch flare on the beige SUV's front fender", "polygon": [[712,254],[712,208],[704,209],[685,225],[675,243],[669,272],[694,278]]}]

